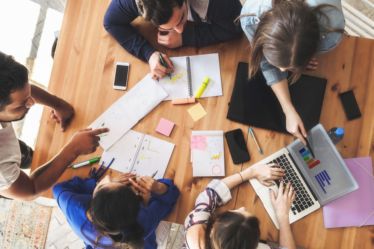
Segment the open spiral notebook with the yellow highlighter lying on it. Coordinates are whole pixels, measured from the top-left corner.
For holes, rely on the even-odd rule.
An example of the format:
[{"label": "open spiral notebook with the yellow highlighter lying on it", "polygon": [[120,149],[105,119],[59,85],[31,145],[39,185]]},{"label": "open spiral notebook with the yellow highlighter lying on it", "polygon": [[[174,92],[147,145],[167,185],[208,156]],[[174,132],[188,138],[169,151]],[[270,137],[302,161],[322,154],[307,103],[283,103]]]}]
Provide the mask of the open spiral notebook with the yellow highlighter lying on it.
[{"label": "open spiral notebook with the yellow highlighter lying on it", "polygon": [[159,80],[159,83],[169,93],[163,100],[194,97],[205,77],[209,77],[210,81],[200,98],[222,96],[218,53],[171,57],[170,59],[174,65],[171,80],[168,76]]}]

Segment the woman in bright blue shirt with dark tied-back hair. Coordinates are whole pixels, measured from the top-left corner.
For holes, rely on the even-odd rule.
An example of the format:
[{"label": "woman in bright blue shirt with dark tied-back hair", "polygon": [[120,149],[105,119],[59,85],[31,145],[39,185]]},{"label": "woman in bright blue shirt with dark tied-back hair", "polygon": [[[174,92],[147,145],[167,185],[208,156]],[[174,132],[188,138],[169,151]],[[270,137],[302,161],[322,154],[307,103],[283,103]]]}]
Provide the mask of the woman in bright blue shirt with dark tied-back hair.
[{"label": "woman in bright blue shirt with dark tied-back hair", "polygon": [[[135,190],[151,192],[147,208],[126,186],[130,183]],[[87,249],[156,249],[154,231],[173,211],[179,190],[169,179],[155,180],[126,172],[114,178],[106,176],[97,186],[93,178],[74,177],[56,184],[53,196]]]}]

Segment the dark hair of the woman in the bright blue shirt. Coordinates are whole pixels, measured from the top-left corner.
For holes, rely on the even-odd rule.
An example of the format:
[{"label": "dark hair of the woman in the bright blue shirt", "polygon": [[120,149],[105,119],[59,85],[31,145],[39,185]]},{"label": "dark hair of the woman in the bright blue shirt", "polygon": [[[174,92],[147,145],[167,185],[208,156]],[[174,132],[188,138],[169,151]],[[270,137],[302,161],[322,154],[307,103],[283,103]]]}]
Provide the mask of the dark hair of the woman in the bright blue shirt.
[{"label": "dark hair of the woman in the bright blue shirt", "polygon": [[[144,248],[145,232],[137,221],[140,212],[138,196],[125,185],[119,187],[101,187],[89,202],[88,211],[92,224],[98,231],[95,241],[82,234],[95,246],[101,248],[139,249]],[[124,229],[125,228],[125,229]],[[124,234],[121,230],[126,230]],[[99,243],[103,237],[113,241],[112,245]]]}]

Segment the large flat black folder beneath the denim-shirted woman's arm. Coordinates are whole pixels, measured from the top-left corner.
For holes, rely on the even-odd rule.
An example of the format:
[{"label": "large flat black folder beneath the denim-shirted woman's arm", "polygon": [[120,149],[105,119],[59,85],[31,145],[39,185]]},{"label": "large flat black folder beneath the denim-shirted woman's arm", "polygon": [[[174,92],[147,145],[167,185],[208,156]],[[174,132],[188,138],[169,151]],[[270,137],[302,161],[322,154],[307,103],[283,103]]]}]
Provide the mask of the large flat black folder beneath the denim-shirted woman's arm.
[{"label": "large flat black folder beneath the denim-shirted woman's arm", "polygon": [[[289,86],[292,105],[304,123],[306,131],[319,123],[327,80],[309,75],[301,75]],[[266,84],[261,70],[248,80],[248,63],[239,62],[234,88],[229,103],[227,118],[234,121],[287,132],[286,115],[281,103]]]}]

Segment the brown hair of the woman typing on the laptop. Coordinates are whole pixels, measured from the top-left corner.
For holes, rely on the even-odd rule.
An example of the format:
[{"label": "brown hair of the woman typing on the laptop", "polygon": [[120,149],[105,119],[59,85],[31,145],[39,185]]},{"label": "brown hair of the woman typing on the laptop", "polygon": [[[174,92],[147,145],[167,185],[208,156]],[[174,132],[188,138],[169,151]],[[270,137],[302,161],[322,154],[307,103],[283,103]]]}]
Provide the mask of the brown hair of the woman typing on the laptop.
[{"label": "brown hair of the woman typing on the laptop", "polygon": [[213,215],[205,228],[205,249],[256,249],[260,221],[237,212]]}]

